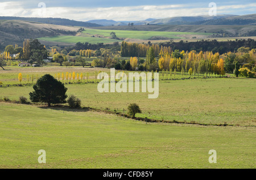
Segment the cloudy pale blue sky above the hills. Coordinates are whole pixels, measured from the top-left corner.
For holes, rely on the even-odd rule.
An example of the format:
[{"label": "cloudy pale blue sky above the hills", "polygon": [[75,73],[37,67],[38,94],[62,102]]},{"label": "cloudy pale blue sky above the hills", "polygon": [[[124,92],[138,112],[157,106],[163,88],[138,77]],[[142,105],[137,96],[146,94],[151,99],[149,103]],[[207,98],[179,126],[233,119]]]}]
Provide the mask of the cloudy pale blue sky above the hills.
[{"label": "cloudy pale blue sky above the hills", "polygon": [[0,16],[66,18],[79,21],[109,19],[116,21],[162,19],[175,16],[208,15],[216,5],[217,15],[256,13],[255,0],[172,1],[172,0],[93,0],[93,1],[1,1]]}]

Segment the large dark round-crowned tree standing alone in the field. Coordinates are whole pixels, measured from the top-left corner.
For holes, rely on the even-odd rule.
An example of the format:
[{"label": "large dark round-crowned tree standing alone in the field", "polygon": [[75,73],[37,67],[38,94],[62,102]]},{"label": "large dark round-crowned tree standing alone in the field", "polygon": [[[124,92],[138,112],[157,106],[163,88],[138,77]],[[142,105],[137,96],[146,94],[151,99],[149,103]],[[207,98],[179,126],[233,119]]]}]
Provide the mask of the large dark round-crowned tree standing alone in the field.
[{"label": "large dark round-crowned tree standing alone in the field", "polygon": [[51,106],[51,104],[65,103],[68,97],[66,95],[68,88],[49,74],[39,78],[33,88],[35,91],[30,92],[32,102],[47,102],[48,106]]}]

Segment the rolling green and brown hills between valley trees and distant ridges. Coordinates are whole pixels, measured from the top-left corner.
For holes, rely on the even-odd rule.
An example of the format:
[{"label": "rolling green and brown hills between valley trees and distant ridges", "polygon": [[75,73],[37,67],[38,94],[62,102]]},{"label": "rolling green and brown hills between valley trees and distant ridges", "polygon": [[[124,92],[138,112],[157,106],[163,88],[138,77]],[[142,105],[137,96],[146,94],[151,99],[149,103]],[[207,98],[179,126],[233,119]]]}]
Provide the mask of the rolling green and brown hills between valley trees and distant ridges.
[{"label": "rolling green and brown hills between valley trees and distant ridges", "polygon": [[[236,16],[230,16],[234,19]],[[241,17],[241,16],[239,16]],[[247,15],[245,19],[253,19]],[[223,19],[223,18],[222,18]],[[117,41],[160,42],[161,40],[192,40],[200,38],[256,36],[256,25],[134,25],[85,28],[27,22],[0,20],[0,49],[10,44],[23,45],[26,38],[39,38],[45,45],[74,45],[76,42],[112,43]],[[118,40],[112,39],[115,32]]]}]

